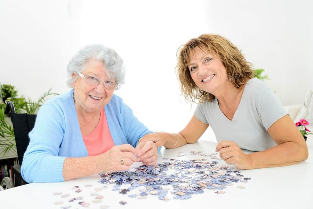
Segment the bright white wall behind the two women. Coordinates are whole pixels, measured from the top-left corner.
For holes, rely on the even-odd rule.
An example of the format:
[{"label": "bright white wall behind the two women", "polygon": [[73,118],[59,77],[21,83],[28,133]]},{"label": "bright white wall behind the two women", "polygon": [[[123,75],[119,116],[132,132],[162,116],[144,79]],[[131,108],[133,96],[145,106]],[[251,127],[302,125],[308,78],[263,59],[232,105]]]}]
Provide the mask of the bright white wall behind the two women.
[{"label": "bright white wall behind the two women", "polygon": [[[177,132],[195,105],[180,97],[177,48],[202,33],[225,36],[246,54],[284,105],[313,89],[311,1],[0,0],[0,82],[38,98],[63,93],[66,65],[85,44],[103,43],[125,61],[116,92],[150,129]],[[206,133],[203,138],[208,138]]]}]

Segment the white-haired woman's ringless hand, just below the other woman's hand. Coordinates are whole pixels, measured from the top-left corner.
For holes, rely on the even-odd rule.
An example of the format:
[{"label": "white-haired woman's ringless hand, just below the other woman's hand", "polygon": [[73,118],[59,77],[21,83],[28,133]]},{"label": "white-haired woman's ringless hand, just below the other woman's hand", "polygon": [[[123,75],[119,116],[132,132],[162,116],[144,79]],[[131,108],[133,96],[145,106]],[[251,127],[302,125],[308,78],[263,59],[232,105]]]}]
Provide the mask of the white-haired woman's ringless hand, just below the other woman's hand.
[{"label": "white-haired woman's ringless hand, just below the other woman's hand", "polygon": [[139,142],[136,147],[137,161],[153,166],[157,161],[157,147],[153,141]]}]

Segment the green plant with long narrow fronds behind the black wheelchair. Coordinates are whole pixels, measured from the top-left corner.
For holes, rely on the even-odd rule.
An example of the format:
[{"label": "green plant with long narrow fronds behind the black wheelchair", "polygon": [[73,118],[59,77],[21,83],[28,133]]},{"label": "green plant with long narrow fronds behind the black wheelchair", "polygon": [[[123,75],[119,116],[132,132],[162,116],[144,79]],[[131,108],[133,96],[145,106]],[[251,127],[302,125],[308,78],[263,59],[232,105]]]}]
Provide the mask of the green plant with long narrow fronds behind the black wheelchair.
[{"label": "green plant with long narrow fronds behind the black wheelchair", "polygon": [[[46,99],[55,95],[59,94],[51,93],[51,89],[49,89],[49,91],[40,96],[38,100],[32,100],[23,95],[21,98],[11,98],[10,100],[14,104],[15,112],[37,114],[37,111],[40,106],[44,104]],[[2,146],[0,155],[3,154],[3,156],[10,150],[17,154],[12,122],[8,115],[4,114],[5,108],[6,104],[0,103],[0,146]]]}]

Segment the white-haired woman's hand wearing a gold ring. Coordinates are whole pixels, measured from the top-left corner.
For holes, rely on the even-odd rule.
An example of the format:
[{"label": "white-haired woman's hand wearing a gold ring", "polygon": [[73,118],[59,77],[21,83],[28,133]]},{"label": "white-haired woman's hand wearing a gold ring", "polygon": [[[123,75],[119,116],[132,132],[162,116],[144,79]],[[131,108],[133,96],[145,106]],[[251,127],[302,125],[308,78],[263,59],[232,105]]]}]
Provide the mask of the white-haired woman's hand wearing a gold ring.
[{"label": "white-haired woman's hand wearing a gold ring", "polygon": [[130,144],[117,145],[97,155],[100,158],[101,172],[126,171],[137,161],[135,148]]}]

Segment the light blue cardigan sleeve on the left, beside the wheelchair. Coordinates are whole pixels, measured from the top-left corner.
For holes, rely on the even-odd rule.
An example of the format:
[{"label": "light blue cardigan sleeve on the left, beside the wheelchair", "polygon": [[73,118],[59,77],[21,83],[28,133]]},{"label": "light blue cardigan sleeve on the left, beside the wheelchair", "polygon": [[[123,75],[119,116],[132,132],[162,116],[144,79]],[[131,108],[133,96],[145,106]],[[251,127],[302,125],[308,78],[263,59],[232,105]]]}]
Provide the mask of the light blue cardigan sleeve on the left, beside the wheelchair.
[{"label": "light blue cardigan sleeve on the left, beside the wheelchair", "polygon": [[22,177],[28,183],[64,181],[65,157],[58,156],[64,121],[62,110],[52,103],[40,107],[21,166]]}]

